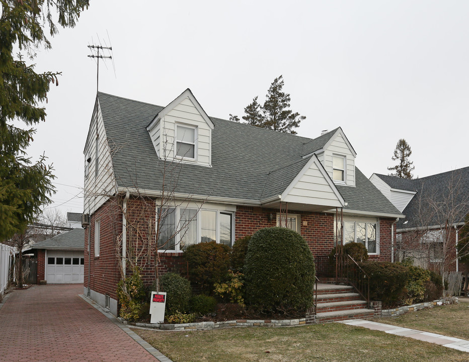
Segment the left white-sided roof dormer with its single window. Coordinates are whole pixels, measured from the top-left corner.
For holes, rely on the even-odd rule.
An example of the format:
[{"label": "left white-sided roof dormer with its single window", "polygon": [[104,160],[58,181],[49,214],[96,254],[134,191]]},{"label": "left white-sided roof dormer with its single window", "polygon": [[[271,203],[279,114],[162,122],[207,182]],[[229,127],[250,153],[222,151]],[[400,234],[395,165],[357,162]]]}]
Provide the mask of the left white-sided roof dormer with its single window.
[{"label": "left white-sided roof dormer with its single window", "polygon": [[158,156],[168,161],[211,166],[214,126],[189,88],[146,127]]}]

